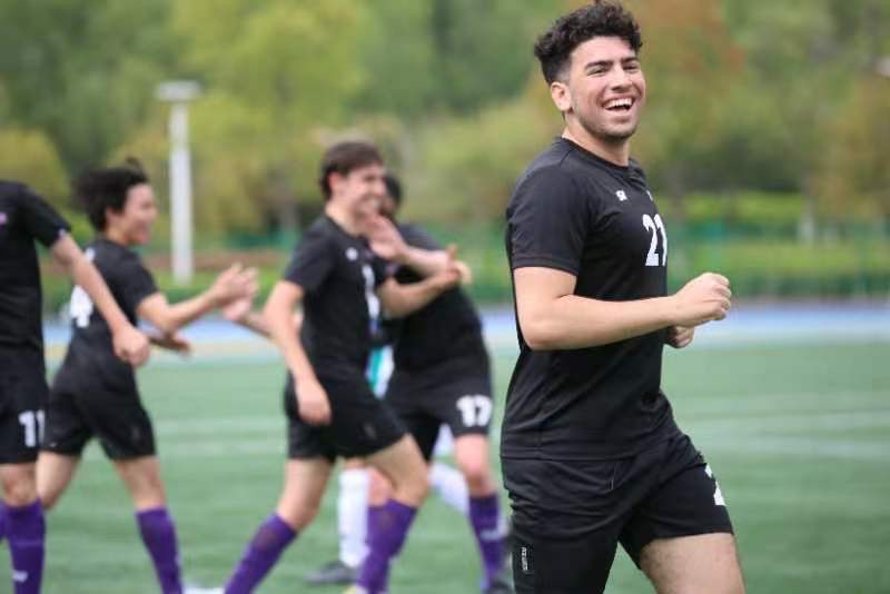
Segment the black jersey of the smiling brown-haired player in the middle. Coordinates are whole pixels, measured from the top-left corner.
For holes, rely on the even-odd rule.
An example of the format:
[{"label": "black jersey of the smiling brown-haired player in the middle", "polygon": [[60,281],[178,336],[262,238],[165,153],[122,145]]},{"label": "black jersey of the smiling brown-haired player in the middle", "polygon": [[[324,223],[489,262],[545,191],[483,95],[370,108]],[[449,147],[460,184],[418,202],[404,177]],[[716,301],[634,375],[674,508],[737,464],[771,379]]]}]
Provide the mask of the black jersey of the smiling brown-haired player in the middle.
[{"label": "black jersey of the smiling brown-haired player in the middle", "polygon": [[363,238],[323,216],[306,231],[284,279],[303,288],[300,339],[318,376],[364,373],[380,303],[386,263]]}]

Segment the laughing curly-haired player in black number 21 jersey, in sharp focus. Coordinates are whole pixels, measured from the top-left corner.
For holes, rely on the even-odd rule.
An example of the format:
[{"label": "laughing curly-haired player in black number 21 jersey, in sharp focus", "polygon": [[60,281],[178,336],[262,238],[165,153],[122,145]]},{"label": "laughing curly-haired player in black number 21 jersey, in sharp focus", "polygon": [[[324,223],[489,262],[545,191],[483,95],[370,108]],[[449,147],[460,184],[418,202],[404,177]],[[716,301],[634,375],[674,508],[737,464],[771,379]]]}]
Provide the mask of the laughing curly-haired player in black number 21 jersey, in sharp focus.
[{"label": "laughing curly-haired player in black number 21 jersey, in sharp focus", "polygon": [[668,295],[668,232],[630,138],[640,29],[597,1],[535,55],[565,128],[507,207],[520,357],[502,433],[516,592],[602,592],[617,543],[657,592],[744,591],[729,514],[661,390],[664,344],[730,308],[726,278]]}]

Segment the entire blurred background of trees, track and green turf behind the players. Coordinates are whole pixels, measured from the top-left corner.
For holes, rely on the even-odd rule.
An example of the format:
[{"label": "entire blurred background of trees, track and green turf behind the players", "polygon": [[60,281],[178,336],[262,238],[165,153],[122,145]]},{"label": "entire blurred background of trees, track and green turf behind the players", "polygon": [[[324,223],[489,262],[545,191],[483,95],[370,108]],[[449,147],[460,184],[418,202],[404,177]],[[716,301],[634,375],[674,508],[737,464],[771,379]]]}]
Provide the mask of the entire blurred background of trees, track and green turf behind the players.
[{"label": "entire blurred background of trees, track and green turf behind the players", "polygon": [[[165,290],[190,295],[233,260],[258,266],[268,290],[322,210],[323,150],[372,139],[404,179],[405,218],[473,266],[503,396],[515,358],[503,212],[562,127],[532,43],[581,3],[0,0],[0,176],[47,196],[83,242],[68,180],[135,156],[161,204],[145,256]],[[890,592],[890,2],[625,3],[650,93],[633,154],[671,236],[671,288],[718,270],[739,304],[668,355],[665,383],[723,483],[751,591]],[[169,80],[200,86],[185,283],[170,274],[170,103],[157,97]],[[44,291],[58,311],[70,286],[44,275]],[[273,504],[284,452],[281,366],[224,326],[192,330],[190,362],[159,356],[140,375],[187,572],[210,583]],[[47,331],[58,360],[65,329]],[[122,488],[99,453],[86,462],[50,519],[48,591],[120,592],[113,564],[137,576],[126,592],[152,592]],[[467,558],[442,547],[464,527],[429,508],[395,591],[473,592],[474,572],[429,583]],[[330,503],[324,514],[264,592],[294,591],[335,555]],[[649,591],[624,557],[610,588]]]}]

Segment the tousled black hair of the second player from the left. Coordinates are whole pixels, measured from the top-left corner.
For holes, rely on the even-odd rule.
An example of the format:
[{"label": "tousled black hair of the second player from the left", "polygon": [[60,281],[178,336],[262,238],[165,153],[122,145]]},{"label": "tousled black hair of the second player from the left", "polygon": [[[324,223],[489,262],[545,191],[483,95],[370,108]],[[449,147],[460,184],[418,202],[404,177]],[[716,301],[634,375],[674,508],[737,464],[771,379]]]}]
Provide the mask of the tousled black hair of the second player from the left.
[{"label": "tousled black hair of the second player from the left", "polygon": [[92,228],[103,231],[106,209],[123,210],[130,188],[140,184],[148,184],[148,176],[138,160],[128,157],[121,166],[89,169],[81,174],[73,182],[75,200],[87,212]]}]

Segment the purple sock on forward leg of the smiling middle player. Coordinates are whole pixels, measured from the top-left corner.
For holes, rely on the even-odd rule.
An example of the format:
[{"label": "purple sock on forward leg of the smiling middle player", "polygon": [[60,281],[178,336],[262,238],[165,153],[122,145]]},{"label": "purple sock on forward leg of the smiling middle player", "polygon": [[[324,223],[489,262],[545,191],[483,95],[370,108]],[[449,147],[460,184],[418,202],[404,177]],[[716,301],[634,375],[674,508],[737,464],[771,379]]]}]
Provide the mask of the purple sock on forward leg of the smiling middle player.
[{"label": "purple sock on forward leg of the smiling middle player", "polygon": [[415,507],[389,499],[383,507],[368,508],[368,554],[362,564],[358,585],[368,594],[386,592],[389,562],[402,550]]}]

